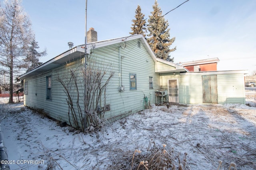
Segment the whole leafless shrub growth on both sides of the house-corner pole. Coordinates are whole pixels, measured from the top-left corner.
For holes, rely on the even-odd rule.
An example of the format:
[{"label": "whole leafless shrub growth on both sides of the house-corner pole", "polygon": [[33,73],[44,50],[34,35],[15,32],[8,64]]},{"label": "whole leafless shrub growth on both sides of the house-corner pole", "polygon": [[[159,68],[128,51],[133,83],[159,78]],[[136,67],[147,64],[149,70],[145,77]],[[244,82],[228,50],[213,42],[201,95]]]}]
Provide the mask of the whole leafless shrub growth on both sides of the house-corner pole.
[{"label": "whole leafless shrub growth on both sides of the house-corner pole", "polygon": [[91,62],[86,69],[70,68],[68,74],[57,78],[67,96],[69,123],[82,132],[97,131],[106,122],[106,89],[114,71],[102,65]]}]

